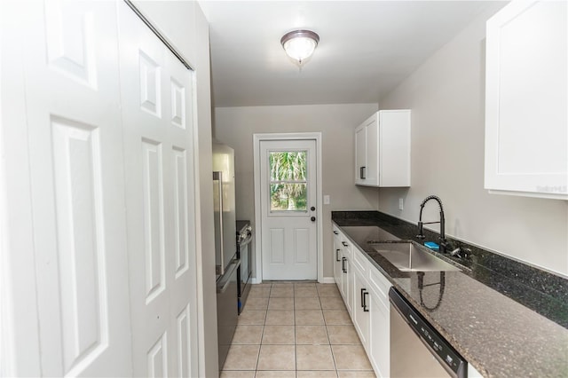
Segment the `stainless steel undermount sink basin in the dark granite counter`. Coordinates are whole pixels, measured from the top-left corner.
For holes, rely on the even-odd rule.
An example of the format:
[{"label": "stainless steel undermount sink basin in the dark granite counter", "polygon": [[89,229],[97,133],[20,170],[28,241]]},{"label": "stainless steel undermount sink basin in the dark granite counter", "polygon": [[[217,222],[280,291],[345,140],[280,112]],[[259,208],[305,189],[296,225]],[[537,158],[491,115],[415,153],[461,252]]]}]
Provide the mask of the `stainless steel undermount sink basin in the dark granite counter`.
[{"label": "stainless steel undermount sink basin in the dark granite counter", "polygon": [[372,243],[371,246],[401,272],[461,271],[413,243]]}]

